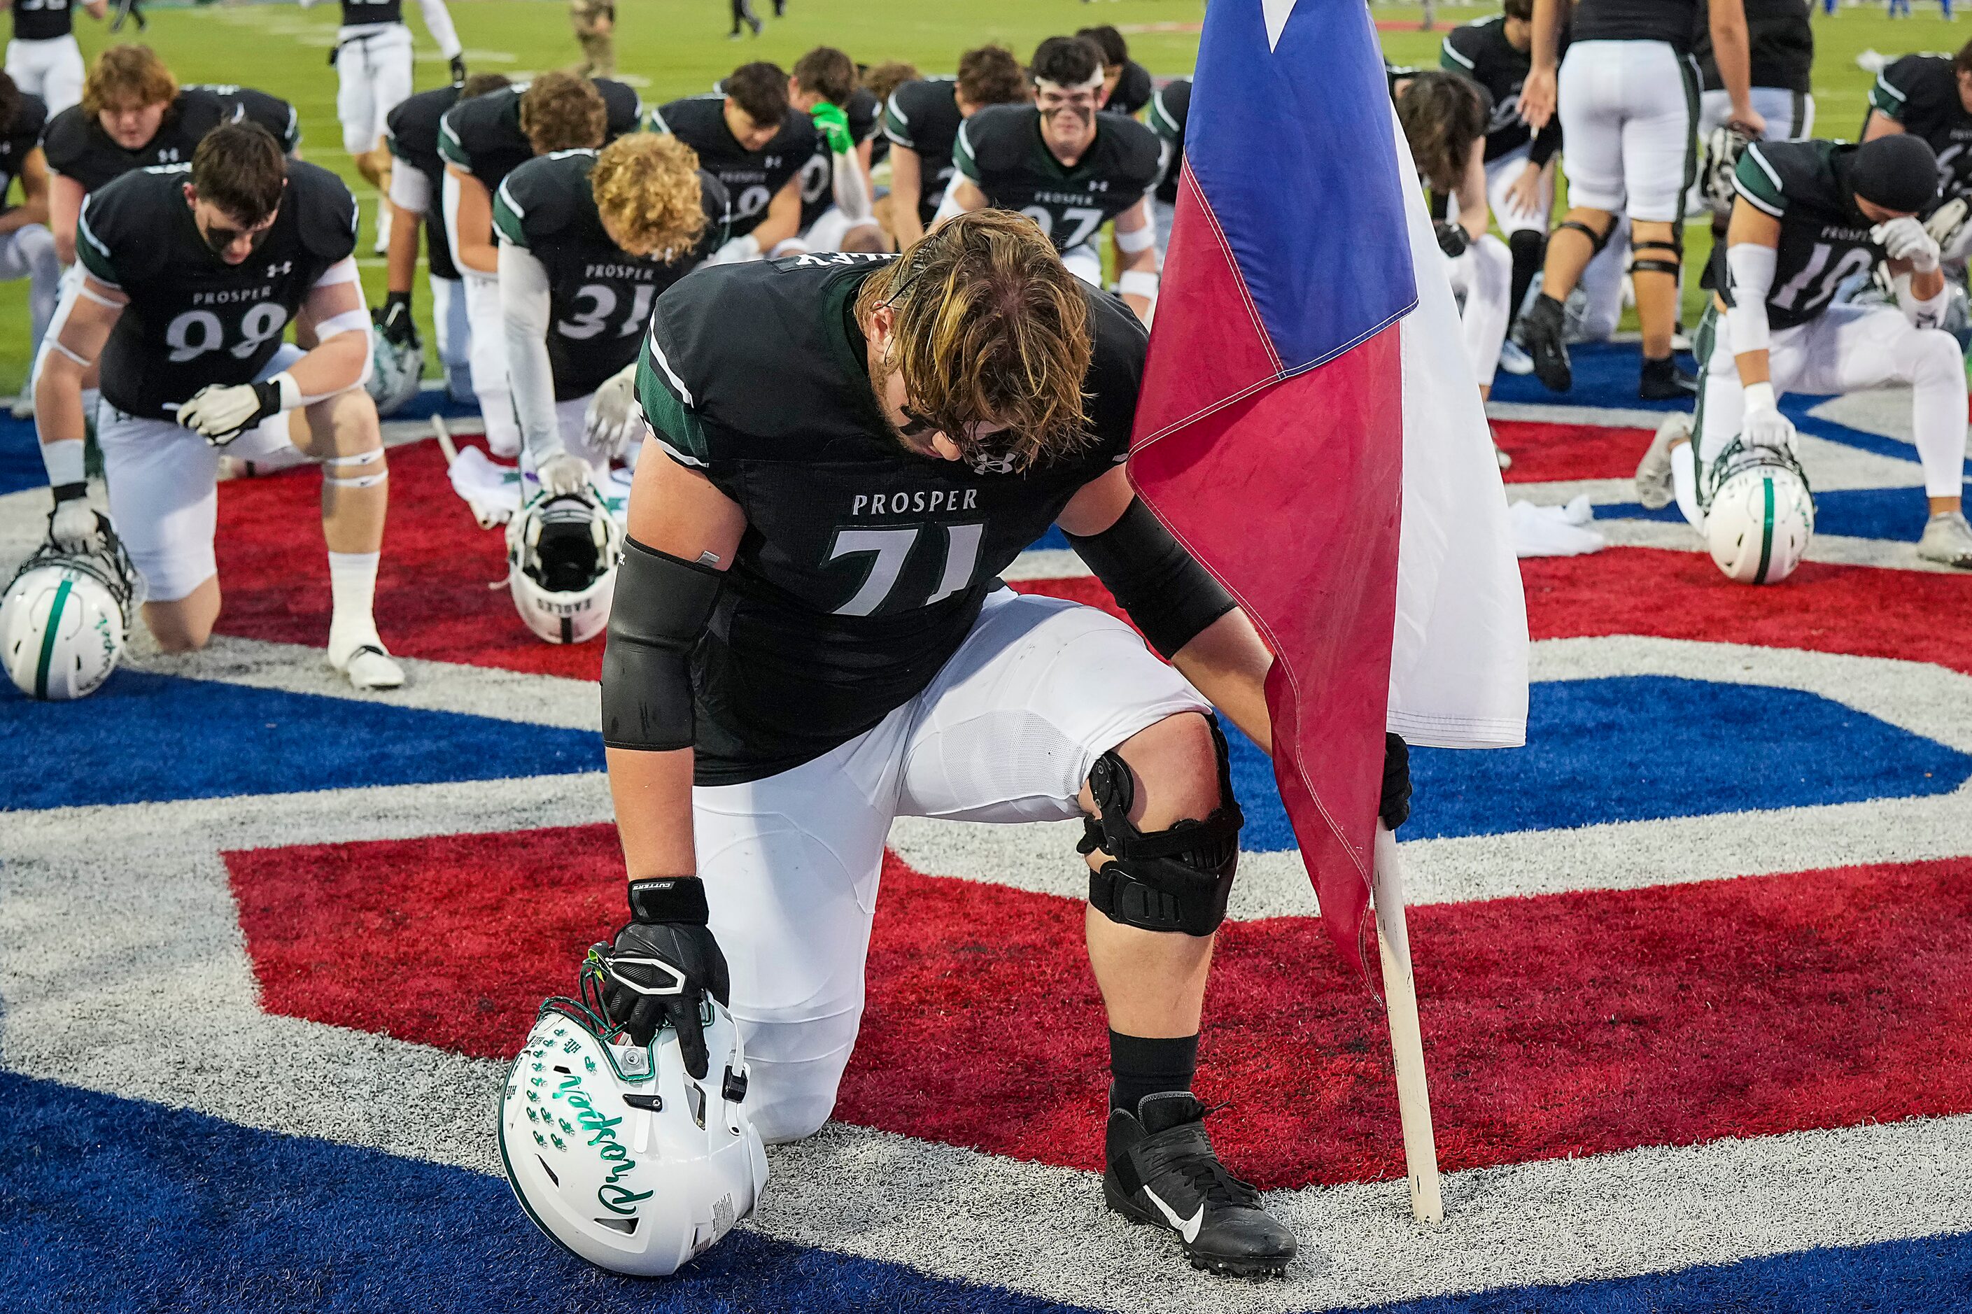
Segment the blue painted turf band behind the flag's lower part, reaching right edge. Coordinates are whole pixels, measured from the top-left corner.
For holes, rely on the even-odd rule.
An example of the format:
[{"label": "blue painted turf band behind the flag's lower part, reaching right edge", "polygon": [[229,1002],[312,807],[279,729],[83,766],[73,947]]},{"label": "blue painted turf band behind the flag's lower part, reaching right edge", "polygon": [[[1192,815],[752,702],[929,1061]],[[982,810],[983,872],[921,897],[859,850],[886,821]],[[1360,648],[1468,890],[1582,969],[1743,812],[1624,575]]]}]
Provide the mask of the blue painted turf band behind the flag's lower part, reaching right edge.
[{"label": "blue painted turf band behind the flag's lower part, reaching right edge", "polygon": [[[1796,689],[1635,675],[1528,694],[1526,748],[1412,750],[1404,839],[1917,797],[1972,777],[1972,756]],[[1294,846],[1272,762],[1238,732],[1232,789],[1248,850]]]}]

